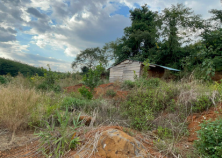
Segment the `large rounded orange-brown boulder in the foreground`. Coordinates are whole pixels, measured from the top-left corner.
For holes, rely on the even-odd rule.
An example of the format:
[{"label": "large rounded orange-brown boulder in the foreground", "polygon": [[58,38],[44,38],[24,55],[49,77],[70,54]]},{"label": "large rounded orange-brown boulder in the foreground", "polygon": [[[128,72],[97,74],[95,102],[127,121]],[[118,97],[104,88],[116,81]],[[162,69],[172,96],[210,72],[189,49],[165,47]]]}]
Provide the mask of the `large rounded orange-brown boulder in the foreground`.
[{"label": "large rounded orange-brown boulder in the foreground", "polygon": [[144,146],[123,131],[109,129],[101,133],[98,141],[98,155],[107,158],[146,157]]}]

